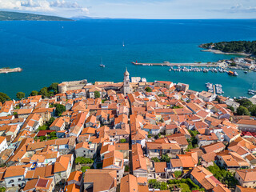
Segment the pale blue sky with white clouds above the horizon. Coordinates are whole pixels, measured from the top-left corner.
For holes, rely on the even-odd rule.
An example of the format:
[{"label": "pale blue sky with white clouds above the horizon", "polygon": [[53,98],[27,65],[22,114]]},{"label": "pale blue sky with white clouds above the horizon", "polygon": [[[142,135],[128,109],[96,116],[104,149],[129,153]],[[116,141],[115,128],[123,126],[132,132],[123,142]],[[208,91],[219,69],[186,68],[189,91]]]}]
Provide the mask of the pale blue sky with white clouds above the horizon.
[{"label": "pale blue sky with white clouds above the horizon", "polygon": [[256,18],[256,0],[0,0],[0,10],[65,18]]}]

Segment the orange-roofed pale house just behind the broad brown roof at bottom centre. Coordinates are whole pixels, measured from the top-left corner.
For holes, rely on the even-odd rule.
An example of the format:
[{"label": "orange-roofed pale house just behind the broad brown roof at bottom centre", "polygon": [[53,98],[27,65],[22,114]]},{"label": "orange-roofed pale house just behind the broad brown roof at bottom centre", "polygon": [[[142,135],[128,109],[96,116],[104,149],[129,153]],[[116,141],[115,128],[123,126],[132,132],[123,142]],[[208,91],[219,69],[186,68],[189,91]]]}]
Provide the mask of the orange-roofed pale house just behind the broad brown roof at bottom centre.
[{"label": "orange-roofed pale house just behind the broad brown roof at bottom centre", "polygon": [[124,173],[123,165],[123,154],[118,150],[113,150],[104,156],[102,169],[117,170],[117,183],[120,183]]}]

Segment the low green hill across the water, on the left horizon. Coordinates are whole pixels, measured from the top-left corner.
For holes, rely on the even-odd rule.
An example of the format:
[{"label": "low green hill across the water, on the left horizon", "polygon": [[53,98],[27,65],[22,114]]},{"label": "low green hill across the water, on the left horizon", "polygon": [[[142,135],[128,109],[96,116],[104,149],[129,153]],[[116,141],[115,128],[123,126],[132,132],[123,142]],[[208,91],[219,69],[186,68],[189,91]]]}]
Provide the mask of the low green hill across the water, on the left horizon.
[{"label": "low green hill across the water, on the left horizon", "polygon": [[27,14],[10,11],[0,11],[0,21],[73,21],[70,18],[60,18],[42,14]]}]

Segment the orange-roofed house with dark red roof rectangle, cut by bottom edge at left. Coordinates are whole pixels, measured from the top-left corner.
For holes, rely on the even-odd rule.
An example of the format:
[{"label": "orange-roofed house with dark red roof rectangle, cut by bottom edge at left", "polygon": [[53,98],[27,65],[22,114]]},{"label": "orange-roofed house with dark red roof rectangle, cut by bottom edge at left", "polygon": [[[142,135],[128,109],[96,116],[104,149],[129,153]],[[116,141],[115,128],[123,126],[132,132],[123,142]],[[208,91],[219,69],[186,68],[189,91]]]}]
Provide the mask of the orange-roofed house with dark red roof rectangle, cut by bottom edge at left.
[{"label": "orange-roofed house with dark red roof rectangle, cut by bottom edge at left", "polygon": [[30,191],[42,191],[52,192],[54,190],[54,179],[53,178],[36,178],[26,182],[24,186],[24,192]]}]

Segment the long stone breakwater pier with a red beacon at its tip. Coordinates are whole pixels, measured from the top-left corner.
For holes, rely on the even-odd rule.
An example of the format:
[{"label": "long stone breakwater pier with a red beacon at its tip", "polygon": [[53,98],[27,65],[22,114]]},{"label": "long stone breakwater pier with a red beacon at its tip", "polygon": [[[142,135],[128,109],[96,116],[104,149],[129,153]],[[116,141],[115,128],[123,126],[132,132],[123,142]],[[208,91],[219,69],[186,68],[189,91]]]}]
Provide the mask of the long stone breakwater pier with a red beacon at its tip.
[{"label": "long stone breakwater pier with a red beacon at its tip", "polygon": [[170,62],[160,62],[160,63],[150,63],[150,62],[131,62],[135,66],[215,66],[218,67],[218,64],[208,64],[191,62],[191,63],[170,63]]}]

